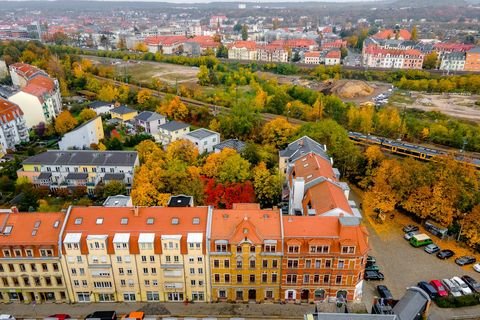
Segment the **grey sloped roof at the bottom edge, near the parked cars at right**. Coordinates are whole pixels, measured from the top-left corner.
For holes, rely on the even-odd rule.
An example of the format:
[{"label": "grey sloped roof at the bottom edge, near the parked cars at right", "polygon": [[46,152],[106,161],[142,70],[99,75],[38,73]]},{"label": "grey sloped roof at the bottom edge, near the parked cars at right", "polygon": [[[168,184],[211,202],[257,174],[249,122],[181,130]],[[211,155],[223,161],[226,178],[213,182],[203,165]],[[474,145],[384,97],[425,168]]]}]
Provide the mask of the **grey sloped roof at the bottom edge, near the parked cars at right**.
[{"label": "grey sloped roof at the bottom edge, near the parked cars at right", "polygon": [[393,307],[393,312],[398,316],[399,320],[415,319],[418,313],[425,310],[429,300],[430,298],[422,289],[411,287],[407,289],[402,299]]}]

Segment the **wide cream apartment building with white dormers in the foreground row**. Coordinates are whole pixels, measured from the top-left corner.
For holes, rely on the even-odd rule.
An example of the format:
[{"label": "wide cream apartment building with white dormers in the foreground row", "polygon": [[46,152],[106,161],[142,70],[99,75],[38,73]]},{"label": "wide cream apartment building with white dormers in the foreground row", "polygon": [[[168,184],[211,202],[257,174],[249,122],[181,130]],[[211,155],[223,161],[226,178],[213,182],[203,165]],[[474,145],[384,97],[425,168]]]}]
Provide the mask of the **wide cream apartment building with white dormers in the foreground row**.
[{"label": "wide cream apartment building with white dormers in the foreground row", "polygon": [[72,207],[63,238],[74,302],[208,301],[208,207]]}]

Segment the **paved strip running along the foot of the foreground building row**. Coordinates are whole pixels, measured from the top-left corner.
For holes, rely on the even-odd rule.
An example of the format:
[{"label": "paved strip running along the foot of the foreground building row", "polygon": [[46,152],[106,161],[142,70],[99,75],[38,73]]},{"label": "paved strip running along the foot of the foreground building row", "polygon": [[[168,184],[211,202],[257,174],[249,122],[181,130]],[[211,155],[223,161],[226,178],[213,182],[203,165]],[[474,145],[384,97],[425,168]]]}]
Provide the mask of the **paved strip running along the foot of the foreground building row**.
[{"label": "paved strip running along the foot of the foreground building row", "polygon": [[83,319],[89,313],[115,310],[118,315],[131,311],[143,311],[156,317],[217,317],[248,319],[303,319],[313,312],[313,304],[230,304],[230,303],[77,303],[77,304],[0,304],[0,314],[11,314],[18,318],[44,318],[51,314],[67,313],[74,319]]}]

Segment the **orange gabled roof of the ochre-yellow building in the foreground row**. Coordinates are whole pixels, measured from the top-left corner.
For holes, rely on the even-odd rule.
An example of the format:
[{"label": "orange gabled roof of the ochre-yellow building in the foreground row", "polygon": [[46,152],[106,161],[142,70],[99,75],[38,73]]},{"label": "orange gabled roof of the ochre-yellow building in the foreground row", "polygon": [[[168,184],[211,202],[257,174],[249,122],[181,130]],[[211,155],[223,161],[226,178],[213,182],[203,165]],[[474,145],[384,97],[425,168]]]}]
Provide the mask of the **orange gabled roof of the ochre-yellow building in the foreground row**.
[{"label": "orange gabled roof of the ochre-yellow building in the foreground row", "polygon": [[258,204],[235,204],[229,210],[214,209],[211,238],[231,243],[239,243],[247,238],[254,244],[263,244],[264,240],[280,240],[280,219],[279,210],[261,210]]}]

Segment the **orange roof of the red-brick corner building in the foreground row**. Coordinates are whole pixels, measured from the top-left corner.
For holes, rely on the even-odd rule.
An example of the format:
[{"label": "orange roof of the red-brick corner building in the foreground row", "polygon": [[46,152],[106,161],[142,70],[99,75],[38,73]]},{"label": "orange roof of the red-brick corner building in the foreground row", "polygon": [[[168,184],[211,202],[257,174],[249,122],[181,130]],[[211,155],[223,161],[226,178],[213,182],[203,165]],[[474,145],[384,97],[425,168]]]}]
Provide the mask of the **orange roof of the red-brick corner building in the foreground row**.
[{"label": "orange roof of the red-brick corner building in the foreground row", "polygon": [[325,243],[330,240],[331,252],[340,252],[342,244],[356,246],[360,254],[369,249],[368,231],[357,218],[283,216],[282,219],[286,243],[291,242],[289,238],[317,238],[325,240]]}]

